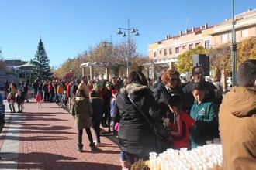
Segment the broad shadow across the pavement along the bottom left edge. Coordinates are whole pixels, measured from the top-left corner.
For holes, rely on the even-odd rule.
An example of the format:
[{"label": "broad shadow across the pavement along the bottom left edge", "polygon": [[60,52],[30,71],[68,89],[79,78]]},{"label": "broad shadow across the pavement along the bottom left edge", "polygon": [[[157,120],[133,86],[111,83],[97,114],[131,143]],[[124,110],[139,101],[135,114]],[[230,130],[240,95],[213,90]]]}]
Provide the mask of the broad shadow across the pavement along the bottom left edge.
[{"label": "broad shadow across the pavement along the bottom left edge", "polygon": [[[2,153],[0,160],[0,169],[12,169],[16,167],[15,163],[9,163],[5,155],[11,153]],[[29,154],[19,154],[19,164],[17,169],[76,169],[76,170],[118,170],[119,165],[101,164],[96,162],[76,162],[76,158],[63,155],[31,152]]]}]

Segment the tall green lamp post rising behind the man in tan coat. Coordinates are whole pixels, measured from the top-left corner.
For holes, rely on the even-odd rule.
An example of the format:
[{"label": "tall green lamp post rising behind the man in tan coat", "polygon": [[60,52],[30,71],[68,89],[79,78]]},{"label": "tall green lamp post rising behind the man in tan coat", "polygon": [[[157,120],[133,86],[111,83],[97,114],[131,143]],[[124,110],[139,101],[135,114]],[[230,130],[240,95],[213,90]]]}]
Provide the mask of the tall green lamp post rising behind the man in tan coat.
[{"label": "tall green lamp post rising behind the man in tan coat", "polygon": [[232,42],[231,42],[231,56],[232,56],[232,85],[237,85],[237,43],[236,43],[236,29],[235,29],[235,18],[234,18],[234,0],[232,2]]}]

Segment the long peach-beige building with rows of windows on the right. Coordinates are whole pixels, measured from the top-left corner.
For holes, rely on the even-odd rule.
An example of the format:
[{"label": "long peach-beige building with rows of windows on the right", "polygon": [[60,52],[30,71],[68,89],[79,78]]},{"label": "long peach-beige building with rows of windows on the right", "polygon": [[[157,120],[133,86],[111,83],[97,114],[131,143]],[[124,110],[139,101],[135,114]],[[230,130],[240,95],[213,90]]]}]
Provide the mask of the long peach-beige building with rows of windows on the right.
[{"label": "long peach-beige building with rows of windows on the right", "polygon": [[[256,10],[248,10],[235,16],[236,39],[240,42],[256,36]],[[163,69],[175,66],[176,57],[185,51],[203,46],[211,48],[231,41],[232,19],[215,26],[204,24],[197,28],[180,31],[178,36],[165,36],[165,39],[149,45],[149,58],[153,60],[151,77],[158,76]],[[154,71],[155,70],[155,71]],[[158,71],[158,73],[157,73]]]}]

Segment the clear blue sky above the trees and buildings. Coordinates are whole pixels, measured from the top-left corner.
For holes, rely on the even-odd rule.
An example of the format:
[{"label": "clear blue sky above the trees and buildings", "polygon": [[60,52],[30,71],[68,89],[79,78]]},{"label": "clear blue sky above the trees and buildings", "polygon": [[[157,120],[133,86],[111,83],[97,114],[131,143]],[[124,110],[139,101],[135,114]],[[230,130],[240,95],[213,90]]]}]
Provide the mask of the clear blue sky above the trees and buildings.
[{"label": "clear blue sky above the trees and buildings", "polygon": [[[234,0],[235,14],[256,0]],[[138,52],[180,30],[231,18],[231,0],[0,0],[0,48],[4,59],[33,59],[40,36],[50,66],[60,66],[102,40],[125,39],[117,28],[139,29]],[[110,38],[112,37],[112,38]]]}]

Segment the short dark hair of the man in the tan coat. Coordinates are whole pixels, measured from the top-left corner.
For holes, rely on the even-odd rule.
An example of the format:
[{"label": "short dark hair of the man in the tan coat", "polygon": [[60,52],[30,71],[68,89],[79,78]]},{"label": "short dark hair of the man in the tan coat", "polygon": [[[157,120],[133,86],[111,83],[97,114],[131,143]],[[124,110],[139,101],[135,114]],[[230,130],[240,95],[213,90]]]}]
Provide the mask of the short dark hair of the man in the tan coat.
[{"label": "short dark hair of the man in the tan coat", "polygon": [[256,59],[241,63],[237,71],[237,84],[240,87],[252,87],[256,80]]}]

